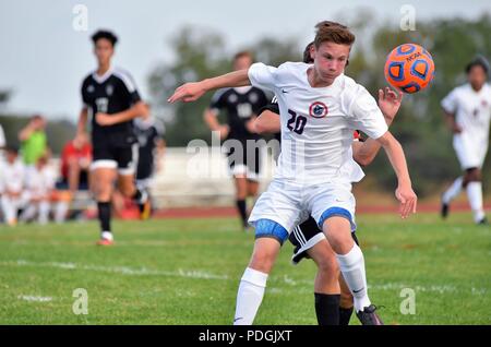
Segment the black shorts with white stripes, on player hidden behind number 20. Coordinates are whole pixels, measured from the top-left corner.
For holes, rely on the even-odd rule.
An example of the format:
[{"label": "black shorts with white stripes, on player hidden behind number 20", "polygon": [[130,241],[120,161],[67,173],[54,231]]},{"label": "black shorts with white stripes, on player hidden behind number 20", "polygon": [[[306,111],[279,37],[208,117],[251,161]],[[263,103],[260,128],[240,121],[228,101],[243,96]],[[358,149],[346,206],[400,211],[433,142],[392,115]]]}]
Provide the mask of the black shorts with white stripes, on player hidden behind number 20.
[{"label": "black shorts with white stripes, on player hidden behind number 20", "polygon": [[[360,246],[358,238],[354,232],[351,232],[355,243]],[[300,224],[298,227],[294,228],[288,240],[295,246],[294,255],[291,256],[291,262],[298,264],[303,258],[309,259],[307,251],[314,247],[318,242],[325,239],[324,232],[319,229],[319,226],[314,218],[309,217],[306,222]]]}]

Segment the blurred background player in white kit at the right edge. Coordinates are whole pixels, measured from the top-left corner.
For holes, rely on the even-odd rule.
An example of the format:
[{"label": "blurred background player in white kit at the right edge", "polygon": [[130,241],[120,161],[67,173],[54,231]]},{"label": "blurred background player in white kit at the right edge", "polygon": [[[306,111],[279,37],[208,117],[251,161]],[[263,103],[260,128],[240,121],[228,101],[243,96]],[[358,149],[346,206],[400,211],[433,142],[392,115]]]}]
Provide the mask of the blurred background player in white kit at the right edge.
[{"label": "blurred background player in white kit at the right edge", "polygon": [[441,213],[446,218],[450,203],[465,188],[475,223],[487,225],[482,206],[481,168],[488,152],[491,118],[491,87],[486,82],[489,63],[479,56],[467,65],[466,72],[468,83],[456,87],[442,100],[464,175],[443,193]]}]

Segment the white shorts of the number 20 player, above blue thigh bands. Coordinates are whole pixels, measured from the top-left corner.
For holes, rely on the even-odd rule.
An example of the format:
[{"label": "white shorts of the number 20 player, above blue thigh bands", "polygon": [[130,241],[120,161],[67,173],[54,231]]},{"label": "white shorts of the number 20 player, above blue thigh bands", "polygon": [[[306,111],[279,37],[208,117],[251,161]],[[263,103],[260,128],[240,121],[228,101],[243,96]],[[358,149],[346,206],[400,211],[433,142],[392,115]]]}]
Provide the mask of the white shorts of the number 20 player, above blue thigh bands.
[{"label": "white shorts of the number 20 player, above blue thigh bands", "polygon": [[321,227],[328,217],[344,216],[350,220],[351,230],[355,230],[355,207],[356,201],[349,182],[303,186],[274,180],[255,203],[249,224],[255,227],[258,220],[270,219],[290,234],[309,215]]}]

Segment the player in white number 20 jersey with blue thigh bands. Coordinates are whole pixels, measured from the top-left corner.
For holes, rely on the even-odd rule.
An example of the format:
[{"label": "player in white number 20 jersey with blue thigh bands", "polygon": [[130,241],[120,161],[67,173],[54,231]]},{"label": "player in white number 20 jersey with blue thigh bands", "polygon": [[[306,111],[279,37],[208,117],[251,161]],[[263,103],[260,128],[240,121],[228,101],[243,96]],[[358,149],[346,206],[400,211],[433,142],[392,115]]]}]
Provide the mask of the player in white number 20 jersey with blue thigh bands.
[{"label": "player in white number 20 jersey with blue thigh bands", "polygon": [[[397,175],[396,198],[400,215],[416,212],[404,151],[387,131],[384,113],[395,113],[392,103],[376,105],[367,89],[343,71],[355,35],[339,24],[318,24],[313,64],[287,62],[279,68],[255,63],[197,83],[187,83],[168,99],[193,101],[211,89],[255,85],[278,97],[282,154],[273,182],[258,200],[249,223],[255,227],[252,259],[240,282],[235,324],[252,324],[264,296],[267,276],[283,242],[307,211],[324,231],[355,299],[363,324],[380,324],[368,297],[363,254],[351,238],[356,227],[350,175],[352,131],[376,139]],[[383,92],[382,92],[383,93]],[[380,108],[379,108],[380,107]]]}]

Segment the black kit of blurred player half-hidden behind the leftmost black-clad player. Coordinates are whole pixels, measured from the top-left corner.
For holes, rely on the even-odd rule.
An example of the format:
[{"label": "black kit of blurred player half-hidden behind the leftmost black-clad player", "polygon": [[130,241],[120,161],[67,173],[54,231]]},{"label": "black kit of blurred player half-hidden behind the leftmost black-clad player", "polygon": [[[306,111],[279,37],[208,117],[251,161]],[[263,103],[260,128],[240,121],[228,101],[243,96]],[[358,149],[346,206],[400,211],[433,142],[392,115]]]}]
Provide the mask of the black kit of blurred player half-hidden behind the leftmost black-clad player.
[{"label": "black kit of blurred player half-hidden behind the leftmost black-clad player", "polygon": [[154,171],[155,151],[158,140],[164,140],[165,128],[159,121],[136,119],[134,133],[139,142],[139,165],[136,179],[149,178]]}]

